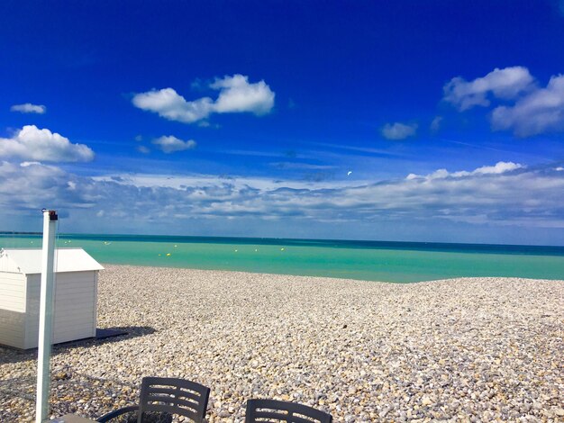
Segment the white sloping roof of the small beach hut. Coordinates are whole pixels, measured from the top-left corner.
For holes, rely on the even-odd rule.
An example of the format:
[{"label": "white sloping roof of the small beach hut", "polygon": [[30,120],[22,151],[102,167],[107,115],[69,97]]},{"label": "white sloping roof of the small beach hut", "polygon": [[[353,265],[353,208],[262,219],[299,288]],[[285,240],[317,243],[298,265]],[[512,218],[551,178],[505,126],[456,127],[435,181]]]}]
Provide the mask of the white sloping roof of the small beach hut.
[{"label": "white sloping roof of the small beach hut", "polygon": [[[0,249],[0,272],[41,274],[41,248]],[[55,250],[55,273],[87,272],[103,270],[94,258],[82,248],[57,248]]]}]

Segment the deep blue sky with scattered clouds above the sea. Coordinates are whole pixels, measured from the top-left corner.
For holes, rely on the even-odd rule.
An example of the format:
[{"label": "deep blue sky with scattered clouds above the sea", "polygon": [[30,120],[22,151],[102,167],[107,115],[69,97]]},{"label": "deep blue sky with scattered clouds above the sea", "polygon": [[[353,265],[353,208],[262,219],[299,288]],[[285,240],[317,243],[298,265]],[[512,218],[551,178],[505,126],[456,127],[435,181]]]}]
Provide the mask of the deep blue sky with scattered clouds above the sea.
[{"label": "deep blue sky with scattered clouds above the sea", "polygon": [[564,245],[564,2],[4,1],[0,230]]}]

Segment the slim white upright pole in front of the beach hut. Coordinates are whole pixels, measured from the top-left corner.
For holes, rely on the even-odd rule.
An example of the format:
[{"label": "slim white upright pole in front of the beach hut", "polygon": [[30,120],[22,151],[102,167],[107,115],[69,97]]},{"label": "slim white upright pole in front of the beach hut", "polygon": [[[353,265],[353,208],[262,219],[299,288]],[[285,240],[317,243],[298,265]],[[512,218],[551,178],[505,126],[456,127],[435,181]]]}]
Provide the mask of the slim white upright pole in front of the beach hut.
[{"label": "slim white upright pole in front of the beach hut", "polygon": [[41,299],[37,353],[37,398],[35,423],[48,419],[51,334],[53,329],[53,264],[57,211],[43,209],[43,251],[41,255]]}]

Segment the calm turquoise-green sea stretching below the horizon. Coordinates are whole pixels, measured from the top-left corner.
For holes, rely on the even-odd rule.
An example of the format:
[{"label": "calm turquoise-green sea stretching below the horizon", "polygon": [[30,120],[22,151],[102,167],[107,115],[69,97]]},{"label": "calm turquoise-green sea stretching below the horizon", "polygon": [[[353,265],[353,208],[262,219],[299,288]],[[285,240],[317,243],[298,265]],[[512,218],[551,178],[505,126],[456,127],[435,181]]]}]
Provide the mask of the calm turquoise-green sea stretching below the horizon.
[{"label": "calm turquoise-green sea stretching below the horizon", "polygon": [[[564,279],[564,247],[59,235],[100,263],[240,270],[409,283],[460,276]],[[0,247],[41,247],[41,236],[0,235]]]}]

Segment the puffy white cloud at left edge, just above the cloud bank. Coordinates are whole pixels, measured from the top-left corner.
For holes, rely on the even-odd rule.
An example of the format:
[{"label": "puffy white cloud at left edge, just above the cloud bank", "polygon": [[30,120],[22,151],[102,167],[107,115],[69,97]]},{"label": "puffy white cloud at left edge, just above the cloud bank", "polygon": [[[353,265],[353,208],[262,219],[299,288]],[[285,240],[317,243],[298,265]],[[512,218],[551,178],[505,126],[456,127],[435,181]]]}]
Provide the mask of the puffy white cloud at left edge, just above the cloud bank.
[{"label": "puffy white cloud at left edge, just above the cloud bank", "polygon": [[91,161],[94,151],[50,130],[26,125],[12,138],[0,138],[0,157],[50,162]]}]

